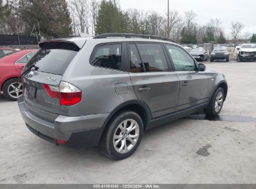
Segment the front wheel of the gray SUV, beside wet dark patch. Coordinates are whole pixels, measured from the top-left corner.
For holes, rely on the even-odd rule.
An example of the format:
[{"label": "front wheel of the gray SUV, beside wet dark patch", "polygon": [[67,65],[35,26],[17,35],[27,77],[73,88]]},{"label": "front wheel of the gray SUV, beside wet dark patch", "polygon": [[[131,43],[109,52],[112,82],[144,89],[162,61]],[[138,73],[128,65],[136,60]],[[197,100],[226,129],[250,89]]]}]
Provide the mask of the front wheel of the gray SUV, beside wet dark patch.
[{"label": "front wheel of the gray SUV, beside wet dark patch", "polygon": [[[224,103],[224,96],[224,90],[221,87],[217,88],[217,90],[214,92],[214,96],[212,96],[208,107],[204,109],[204,113],[206,113],[207,116],[217,116],[222,109]],[[218,104],[216,105],[216,103]]]}]

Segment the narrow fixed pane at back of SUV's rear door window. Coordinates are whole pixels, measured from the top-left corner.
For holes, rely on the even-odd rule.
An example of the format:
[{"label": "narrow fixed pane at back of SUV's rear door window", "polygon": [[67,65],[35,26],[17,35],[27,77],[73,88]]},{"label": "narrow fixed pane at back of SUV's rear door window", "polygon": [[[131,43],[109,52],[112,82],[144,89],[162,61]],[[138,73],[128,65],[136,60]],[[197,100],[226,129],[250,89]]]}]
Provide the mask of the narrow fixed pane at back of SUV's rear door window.
[{"label": "narrow fixed pane at back of SUV's rear door window", "polygon": [[144,72],[135,44],[130,44],[130,72]]}]

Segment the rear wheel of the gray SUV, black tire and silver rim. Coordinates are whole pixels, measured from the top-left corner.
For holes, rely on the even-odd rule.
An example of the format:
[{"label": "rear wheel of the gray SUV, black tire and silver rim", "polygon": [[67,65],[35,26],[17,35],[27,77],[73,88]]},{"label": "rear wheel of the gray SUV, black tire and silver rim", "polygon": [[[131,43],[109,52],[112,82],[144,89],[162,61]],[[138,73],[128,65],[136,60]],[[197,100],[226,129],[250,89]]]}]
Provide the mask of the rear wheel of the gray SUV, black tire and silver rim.
[{"label": "rear wheel of the gray SUV, black tire and silver rim", "polygon": [[[131,122],[136,126],[135,129],[132,129],[134,126],[131,127]],[[128,131],[129,127],[132,129],[131,131]],[[111,119],[108,124],[108,129],[103,133],[99,147],[101,152],[111,159],[122,160],[135,152],[138,145],[140,145],[142,136],[143,121],[140,116],[133,111],[123,111]],[[114,137],[116,137],[116,139],[114,139]],[[135,143],[132,144],[130,140],[133,140]],[[114,141],[116,145],[114,145]]]}]

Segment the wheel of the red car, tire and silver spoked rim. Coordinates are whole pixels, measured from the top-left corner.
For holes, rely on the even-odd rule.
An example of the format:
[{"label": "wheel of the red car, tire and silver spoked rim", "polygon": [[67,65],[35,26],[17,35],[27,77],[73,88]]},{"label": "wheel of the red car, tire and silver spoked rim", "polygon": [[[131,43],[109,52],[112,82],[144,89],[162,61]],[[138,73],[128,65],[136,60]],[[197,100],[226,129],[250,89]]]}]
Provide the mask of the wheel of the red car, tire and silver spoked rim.
[{"label": "wheel of the red car, tire and silver spoked rim", "polygon": [[19,78],[7,80],[2,87],[2,93],[6,99],[17,101],[17,98],[22,94],[22,83]]}]

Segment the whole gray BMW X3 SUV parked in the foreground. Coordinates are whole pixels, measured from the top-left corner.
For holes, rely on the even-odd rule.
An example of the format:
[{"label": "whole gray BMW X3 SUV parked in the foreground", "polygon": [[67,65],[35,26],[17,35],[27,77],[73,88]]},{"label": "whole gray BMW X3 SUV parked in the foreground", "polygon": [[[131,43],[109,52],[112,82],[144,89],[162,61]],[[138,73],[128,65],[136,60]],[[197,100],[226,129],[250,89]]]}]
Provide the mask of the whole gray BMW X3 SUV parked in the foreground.
[{"label": "whole gray BMW X3 SUV parked in the foreground", "polygon": [[183,47],[136,34],[41,42],[22,82],[18,104],[31,132],[57,145],[99,146],[115,160],[133,154],[152,127],[201,109],[216,116],[227,96],[224,75]]}]

